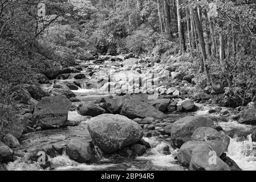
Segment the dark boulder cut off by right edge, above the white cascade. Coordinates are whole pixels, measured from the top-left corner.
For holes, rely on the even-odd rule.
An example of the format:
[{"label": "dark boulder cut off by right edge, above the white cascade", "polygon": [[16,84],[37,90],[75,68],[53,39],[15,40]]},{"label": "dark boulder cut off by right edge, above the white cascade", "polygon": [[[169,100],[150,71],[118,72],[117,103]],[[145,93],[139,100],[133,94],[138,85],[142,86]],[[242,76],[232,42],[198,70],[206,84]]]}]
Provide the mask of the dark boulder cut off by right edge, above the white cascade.
[{"label": "dark boulder cut off by right edge, above the white cascade", "polygon": [[245,109],[243,109],[241,113],[241,117],[239,119],[239,123],[244,123],[244,124],[251,124],[255,125],[256,124],[256,103],[255,102],[250,102]]}]

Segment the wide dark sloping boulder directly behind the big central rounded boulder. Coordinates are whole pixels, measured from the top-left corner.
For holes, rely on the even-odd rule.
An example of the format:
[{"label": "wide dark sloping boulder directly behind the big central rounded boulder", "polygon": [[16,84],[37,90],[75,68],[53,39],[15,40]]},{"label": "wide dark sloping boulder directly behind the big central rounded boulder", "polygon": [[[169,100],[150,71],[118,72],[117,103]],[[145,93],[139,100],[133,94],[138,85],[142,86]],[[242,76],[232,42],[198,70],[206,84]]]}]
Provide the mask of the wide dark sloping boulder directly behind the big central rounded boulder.
[{"label": "wide dark sloping boulder directly behind the big central rounded boulder", "polygon": [[121,115],[128,118],[155,117],[164,118],[165,115],[154,106],[140,100],[125,100],[121,109]]}]

